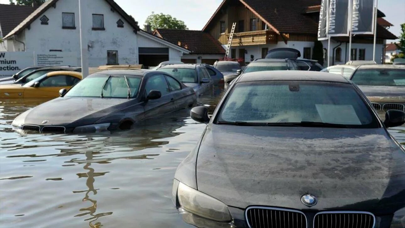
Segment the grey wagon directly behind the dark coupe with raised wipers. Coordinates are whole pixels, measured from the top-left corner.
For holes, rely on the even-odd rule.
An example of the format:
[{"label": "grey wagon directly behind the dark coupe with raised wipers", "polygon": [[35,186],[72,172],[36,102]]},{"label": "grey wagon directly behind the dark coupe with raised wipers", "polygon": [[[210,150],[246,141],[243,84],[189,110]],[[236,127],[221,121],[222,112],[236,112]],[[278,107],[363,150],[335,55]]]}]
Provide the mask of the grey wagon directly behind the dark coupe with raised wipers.
[{"label": "grey wagon directly behind the dark coupe with raised wipers", "polygon": [[193,88],[197,96],[213,91],[214,81],[202,64],[173,64],[162,66],[158,70]]}]

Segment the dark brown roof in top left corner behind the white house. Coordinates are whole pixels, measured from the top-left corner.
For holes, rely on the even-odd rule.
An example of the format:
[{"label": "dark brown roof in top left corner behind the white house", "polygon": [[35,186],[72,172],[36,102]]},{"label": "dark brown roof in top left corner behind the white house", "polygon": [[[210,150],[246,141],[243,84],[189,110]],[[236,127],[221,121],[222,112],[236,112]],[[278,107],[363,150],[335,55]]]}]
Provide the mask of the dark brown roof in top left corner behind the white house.
[{"label": "dark brown roof in top left corner behind the white house", "polygon": [[0,26],[2,35],[6,36],[21,23],[36,8],[32,6],[17,6],[0,4]]}]

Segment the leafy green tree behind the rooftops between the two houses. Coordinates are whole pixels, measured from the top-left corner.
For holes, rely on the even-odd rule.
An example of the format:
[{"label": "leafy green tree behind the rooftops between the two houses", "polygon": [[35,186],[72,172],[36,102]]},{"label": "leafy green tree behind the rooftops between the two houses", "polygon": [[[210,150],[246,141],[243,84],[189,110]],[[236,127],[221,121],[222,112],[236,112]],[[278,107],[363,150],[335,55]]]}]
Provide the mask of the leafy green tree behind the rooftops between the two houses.
[{"label": "leafy green tree behind the rooftops between the two houses", "polygon": [[145,23],[147,25],[150,25],[152,30],[158,28],[188,30],[184,21],[178,20],[171,15],[163,13],[155,14],[154,12],[152,12],[152,14],[146,18]]}]

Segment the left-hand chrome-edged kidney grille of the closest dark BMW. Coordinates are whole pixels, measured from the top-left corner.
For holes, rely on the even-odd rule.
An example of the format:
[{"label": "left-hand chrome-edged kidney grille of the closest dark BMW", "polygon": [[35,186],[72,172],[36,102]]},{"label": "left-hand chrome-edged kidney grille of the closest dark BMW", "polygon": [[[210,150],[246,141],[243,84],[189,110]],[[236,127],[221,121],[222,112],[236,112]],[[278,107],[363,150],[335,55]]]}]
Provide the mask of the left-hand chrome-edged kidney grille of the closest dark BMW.
[{"label": "left-hand chrome-edged kidney grille of the closest dark BMW", "polygon": [[307,228],[307,217],[301,211],[248,207],[245,216],[250,228]]}]

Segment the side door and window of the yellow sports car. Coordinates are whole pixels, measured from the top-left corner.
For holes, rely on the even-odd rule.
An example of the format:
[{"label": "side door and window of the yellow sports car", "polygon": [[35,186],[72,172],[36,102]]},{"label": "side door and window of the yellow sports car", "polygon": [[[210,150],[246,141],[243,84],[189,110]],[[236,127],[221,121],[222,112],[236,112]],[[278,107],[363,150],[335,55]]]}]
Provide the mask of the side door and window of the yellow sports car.
[{"label": "side door and window of the yellow sports car", "polygon": [[38,86],[28,87],[24,91],[24,98],[56,98],[60,89],[70,89],[79,78],[70,75],[54,75],[39,81]]}]

